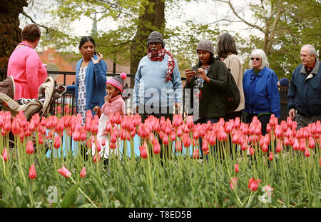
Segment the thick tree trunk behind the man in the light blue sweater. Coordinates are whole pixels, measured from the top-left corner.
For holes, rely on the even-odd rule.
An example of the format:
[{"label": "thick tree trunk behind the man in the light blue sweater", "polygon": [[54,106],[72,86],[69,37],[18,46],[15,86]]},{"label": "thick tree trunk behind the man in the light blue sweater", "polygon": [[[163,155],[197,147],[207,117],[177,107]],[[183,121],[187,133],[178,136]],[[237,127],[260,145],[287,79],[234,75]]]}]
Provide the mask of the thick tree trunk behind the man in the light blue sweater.
[{"label": "thick tree trunk behind the man in the light blue sweater", "polygon": [[[150,10],[152,7],[153,10]],[[163,34],[165,29],[165,0],[150,0],[144,5],[145,12],[138,20],[136,36],[131,44],[131,74],[136,74],[139,61],[146,56],[147,39],[152,31]],[[131,88],[135,84],[131,79]]]}]

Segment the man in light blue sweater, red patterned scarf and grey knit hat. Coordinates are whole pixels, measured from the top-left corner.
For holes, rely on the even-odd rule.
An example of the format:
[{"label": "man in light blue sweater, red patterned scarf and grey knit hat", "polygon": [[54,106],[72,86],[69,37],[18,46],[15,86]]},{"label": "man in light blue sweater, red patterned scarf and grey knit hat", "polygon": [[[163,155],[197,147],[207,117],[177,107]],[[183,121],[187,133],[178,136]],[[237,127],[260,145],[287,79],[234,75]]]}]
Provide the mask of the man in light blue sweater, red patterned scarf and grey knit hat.
[{"label": "man in light blue sweater, red patterned scarf and grey knit hat", "polygon": [[180,110],[183,86],[178,64],[164,49],[163,36],[153,31],[148,36],[147,55],[141,59],[135,76],[133,106],[143,121],[147,115],[173,118],[173,108]]}]

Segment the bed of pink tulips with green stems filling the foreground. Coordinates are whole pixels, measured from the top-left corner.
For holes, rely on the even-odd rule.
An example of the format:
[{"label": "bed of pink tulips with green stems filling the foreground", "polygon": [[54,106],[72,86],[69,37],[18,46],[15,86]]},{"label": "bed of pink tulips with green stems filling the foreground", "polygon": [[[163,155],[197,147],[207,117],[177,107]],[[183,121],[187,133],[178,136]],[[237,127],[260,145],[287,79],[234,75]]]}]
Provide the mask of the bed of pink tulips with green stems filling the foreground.
[{"label": "bed of pink tulips with green stems filling the foreground", "polygon": [[[142,123],[111,113],[108,140],[99,141],[98,116],[89,111],[84,126],[80,115],[27,121],[0,111],[0,207],[321,207],[320,121],[297,130],[291,118],[271,116],[262,136],[258,118],[196,124],[190,117]],[[108,164],[98,153],[106,148]]]}]

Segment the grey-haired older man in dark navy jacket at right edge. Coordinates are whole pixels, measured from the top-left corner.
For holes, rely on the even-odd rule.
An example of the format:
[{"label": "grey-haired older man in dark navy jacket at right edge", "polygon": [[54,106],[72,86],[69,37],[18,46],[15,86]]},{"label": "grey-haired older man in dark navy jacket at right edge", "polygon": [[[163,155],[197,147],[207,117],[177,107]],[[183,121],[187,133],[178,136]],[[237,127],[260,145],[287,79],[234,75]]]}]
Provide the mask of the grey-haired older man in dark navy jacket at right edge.
[{"label": "grey-haired older man in dark navy jacket at right edge", "polygon": [[289,116],[297,121],[297,129],[321,120],[321,68],[317,52],[311,45],[300,51],[302,64],[293,71],[287,94]]}]

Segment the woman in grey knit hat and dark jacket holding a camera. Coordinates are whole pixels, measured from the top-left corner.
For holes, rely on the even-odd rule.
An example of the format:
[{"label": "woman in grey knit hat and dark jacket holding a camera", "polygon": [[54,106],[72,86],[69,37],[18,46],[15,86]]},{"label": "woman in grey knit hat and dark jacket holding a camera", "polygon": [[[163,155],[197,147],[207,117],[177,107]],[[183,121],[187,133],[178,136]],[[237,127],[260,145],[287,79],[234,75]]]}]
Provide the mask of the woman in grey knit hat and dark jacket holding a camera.
[{"label": "woman in grey knit hat and dark jacket holding a camera", "polygon": [[[193,119],[196,123],[208,121],[216,123],[225,114],[223,93],[228,86],[228,68],[222,61],[214,58],[214,47],[211,41],[200,40],[196,52],[198,64],[192,70],[185,71],[187,79],[185,89],[195,89],[196,95],[199,96],[199,106],[195,107],[197,106],[195,104],[193,107]],[[193,92],[191,95],[195,96]],[[193,101],[193,96],[190,101]],[[202,150],[201,152],[203,154]]]}]

